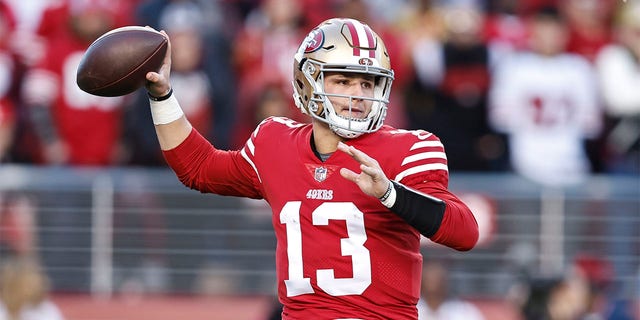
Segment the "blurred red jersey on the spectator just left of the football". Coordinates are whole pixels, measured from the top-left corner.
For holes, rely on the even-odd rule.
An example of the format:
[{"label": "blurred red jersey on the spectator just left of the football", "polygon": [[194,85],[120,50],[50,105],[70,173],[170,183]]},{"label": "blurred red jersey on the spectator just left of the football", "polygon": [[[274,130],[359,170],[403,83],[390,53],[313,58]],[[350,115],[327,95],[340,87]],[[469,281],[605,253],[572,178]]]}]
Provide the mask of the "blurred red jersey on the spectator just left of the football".
[{"label": "blurred red jersey on the spectator just left of the football", "polygon": [[51,108],[53,125],[69,147],[68,164],[113,163],[122,122],[123,97],[98,97],[76,84],[76,71],[89,44],[71,35],[51,41],[47,58],[32,69],[25,99]]}]

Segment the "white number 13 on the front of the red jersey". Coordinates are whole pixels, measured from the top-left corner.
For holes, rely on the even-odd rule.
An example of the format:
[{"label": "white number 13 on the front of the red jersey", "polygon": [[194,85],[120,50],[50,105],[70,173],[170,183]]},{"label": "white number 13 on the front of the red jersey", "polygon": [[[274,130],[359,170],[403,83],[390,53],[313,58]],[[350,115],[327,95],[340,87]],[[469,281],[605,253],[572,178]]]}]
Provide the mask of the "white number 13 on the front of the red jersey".
[{"label": "white number 13 on the front of the red jersey", "polygon": [[[311,278],[303,275],[302,230],[300,228],[300,201],[287,202],[280,211],[280,223],[287,227],[287,256],[289,279],[287,296],[293,297],[313,293]],[[318,287],[332,296],[362,294],[371,284],[371,258],[364,246],[367,234],[364,229],[364,214],[351,202],[326,202],[312,213],[313,225],[326,226],[329,220],[344,220],[347,238],[340,239],[343,256],[351,256],[353,278],[336,278],[333,269],[316,271]]]}]

